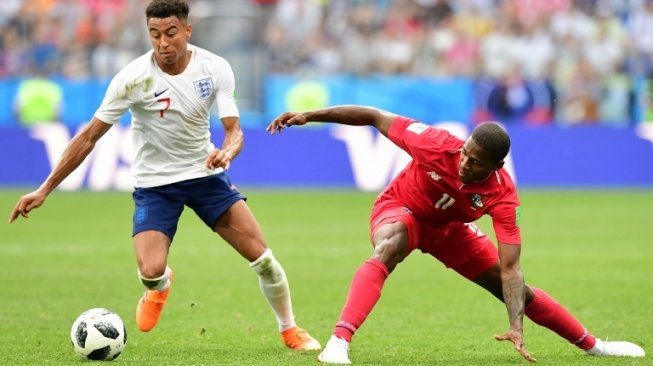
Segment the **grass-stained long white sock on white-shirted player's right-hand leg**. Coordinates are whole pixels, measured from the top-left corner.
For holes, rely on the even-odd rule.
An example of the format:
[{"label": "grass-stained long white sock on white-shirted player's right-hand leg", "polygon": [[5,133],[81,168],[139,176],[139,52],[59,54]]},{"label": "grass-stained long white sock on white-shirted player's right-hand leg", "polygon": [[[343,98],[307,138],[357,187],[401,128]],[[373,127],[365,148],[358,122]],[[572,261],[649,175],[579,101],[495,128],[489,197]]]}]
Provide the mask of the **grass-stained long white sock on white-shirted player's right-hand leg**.
[{"label": "grass-stained long white sock on white-shirted player's right-hand leg", "polygon": [[290,288],[281,264],[267,249],[258,259],[249,264],[258,275],[258,283],[265,299],[272,307],[279,323],[279,331],[295,326],[295,316],[292,312]]}]

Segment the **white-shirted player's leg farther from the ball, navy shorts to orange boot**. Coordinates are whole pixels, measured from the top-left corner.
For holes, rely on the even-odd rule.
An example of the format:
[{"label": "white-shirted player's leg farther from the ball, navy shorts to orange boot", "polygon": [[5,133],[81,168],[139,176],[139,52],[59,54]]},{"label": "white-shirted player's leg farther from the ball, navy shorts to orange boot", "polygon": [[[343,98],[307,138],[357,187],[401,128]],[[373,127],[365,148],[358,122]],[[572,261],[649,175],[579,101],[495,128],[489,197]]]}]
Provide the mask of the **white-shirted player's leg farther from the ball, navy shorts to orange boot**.
[{"label": "white-shirted player's leg farther from the ball, navy shorts to orange boot", "polygon": [[229,177],[221,173],[204,178],[192,192],[188,206],[245,258],[257,274],[261,292],[277,318],[286,346],[297,350],[320,349],[320,343],[295,323],[286,273],[265,244],[245,197]]}]

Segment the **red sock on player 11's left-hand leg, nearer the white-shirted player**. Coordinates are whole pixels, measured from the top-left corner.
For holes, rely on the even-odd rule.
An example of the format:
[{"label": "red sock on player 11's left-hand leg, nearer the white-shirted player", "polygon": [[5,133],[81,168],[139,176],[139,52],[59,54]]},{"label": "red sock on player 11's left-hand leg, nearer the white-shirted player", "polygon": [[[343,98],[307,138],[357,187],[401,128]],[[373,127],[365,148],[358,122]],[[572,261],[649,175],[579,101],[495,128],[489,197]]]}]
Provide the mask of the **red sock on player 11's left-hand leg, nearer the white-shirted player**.
[{"label": "red sock on player 11's left-hand leg, nearer the white-shirted player", "polygon": [[374,258],[358,267],[349,286],[347,301],[333,330],[336,337],[351,342],[351,337],[379,301],[388,273],[388,267]]}]

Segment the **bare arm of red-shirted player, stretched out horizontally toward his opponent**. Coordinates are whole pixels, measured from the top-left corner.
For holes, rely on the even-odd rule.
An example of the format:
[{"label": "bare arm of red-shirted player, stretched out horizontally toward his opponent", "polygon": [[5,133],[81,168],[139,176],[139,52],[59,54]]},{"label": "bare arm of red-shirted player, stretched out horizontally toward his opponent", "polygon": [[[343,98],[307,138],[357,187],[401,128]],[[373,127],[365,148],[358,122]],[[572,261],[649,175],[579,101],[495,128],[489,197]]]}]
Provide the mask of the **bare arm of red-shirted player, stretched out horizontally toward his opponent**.
[{"label": "bare arm of red-shirted player, stretched out horizontally toward his opponent", "polygon": [[274,134],[287,127],[301,126],[307,122],[330,122],[350,126],[374,126],[387,136],[396,117],[393,113],[377,108],[341,105],[302,113],[283,113],[268,125],[266,131]]}]

